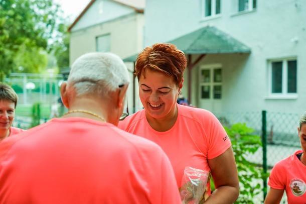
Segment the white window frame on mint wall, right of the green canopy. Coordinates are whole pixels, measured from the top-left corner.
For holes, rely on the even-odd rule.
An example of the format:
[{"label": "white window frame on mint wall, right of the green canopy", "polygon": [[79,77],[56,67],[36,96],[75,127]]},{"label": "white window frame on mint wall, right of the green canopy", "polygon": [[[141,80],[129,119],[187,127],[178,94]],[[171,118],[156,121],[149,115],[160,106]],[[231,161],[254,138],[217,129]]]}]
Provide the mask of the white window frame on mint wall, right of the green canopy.
[{"label": "white window frame on mint wall, right of the green canopy", "polygon": [[[288,61],[296,61],[296,92],[288,93]],[[282,79],[281,79],[281,93],[273,93],[272,92],[272,63],[273,62],[282,62],[281,71],[282,71]],[[278,59],[270,59],[268,60],[268,96],[267,99],[295,99],[298,96],[298,61],[297,57],[286,57],[286,58],[278,58]]]}]

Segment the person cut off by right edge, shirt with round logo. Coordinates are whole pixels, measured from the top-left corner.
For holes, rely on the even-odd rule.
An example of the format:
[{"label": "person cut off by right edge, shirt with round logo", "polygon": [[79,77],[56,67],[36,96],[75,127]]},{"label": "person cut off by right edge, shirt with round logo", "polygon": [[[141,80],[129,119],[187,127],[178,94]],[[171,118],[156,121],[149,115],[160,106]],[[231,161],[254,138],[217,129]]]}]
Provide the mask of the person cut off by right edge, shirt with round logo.
[{"label": "person cut off by right edge, shirt with round logo", "polygon": [[274,165],[265,204],[279,203],[284,191],[289,204],[306,203],[306,112],[300,117],[297,133],[301,150]]}]

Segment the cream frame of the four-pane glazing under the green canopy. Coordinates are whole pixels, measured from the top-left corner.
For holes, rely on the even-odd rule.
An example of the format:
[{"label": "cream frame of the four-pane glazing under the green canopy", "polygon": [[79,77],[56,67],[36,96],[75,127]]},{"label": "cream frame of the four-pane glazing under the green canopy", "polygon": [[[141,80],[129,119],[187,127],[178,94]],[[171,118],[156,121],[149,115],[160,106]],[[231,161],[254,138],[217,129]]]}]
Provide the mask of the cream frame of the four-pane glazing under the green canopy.
[{"label": "cream frame of the four-pane glazing under the green canopy", "polygon": [[[215,82],[214,81],[214,70],[215,69],[221,69],[221,82]],[[210,81],[209,82],[202,82],[202,70],[209,70],[210,71]],[[221,64],[207,64],[203,65],[199,69],[199,94],[201,100],[221,100],[223,97],[223,68]],[[202,86],[209,85],[209,98],[202,98]],[[214,86],[220,85],[221,86],[221,97],[215,98],[214,97]]]}]

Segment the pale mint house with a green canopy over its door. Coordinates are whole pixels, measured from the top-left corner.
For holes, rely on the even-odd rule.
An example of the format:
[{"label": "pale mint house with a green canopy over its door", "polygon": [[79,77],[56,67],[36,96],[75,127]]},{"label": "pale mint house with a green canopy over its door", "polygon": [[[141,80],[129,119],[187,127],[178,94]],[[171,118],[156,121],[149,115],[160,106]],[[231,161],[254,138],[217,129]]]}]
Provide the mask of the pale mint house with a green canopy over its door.
[{"label": "pale mint house with a green canopy over its door", "polygon": [[[147,1],[144,45],[189,59],[182,93],[213,113],[306,110],[306,2]],[[127,58],[133,61],[133,57]]]}]

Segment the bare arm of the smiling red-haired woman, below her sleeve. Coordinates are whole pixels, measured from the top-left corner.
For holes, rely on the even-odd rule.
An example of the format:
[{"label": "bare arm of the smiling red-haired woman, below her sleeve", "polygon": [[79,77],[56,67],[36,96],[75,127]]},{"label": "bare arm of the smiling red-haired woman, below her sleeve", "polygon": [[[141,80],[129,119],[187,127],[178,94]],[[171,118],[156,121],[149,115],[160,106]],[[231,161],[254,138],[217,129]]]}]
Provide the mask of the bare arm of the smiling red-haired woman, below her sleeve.
[{"label": "bare arm of the smiling red-haired woman, below her sleeve", "polygon": [[233,203],[239,195],[239,179],[232,148],[220,156],[209,159],[216,190],[205,203]]}]

